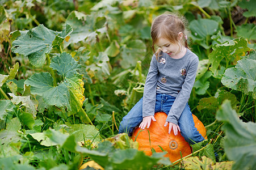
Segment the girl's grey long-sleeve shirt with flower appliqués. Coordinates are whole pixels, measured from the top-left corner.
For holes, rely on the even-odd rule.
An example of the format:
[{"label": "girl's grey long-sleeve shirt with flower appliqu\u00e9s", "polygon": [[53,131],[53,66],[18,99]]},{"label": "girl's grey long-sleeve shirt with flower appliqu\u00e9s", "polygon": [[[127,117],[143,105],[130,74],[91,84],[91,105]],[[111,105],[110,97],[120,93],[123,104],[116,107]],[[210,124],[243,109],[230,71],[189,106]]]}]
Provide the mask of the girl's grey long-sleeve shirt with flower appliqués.
[{"label": "girl's grey long-sleeve shirt with flower appliqu\u00e9s", "polygon": [[195,83],[198,62],[198,56],[189,49],[179,59],[163,52],[158,58],[153,55],[144,87],[142,116],[154,115],[156,93],[171,95],[176,99],[166,121],[177,125]]}]

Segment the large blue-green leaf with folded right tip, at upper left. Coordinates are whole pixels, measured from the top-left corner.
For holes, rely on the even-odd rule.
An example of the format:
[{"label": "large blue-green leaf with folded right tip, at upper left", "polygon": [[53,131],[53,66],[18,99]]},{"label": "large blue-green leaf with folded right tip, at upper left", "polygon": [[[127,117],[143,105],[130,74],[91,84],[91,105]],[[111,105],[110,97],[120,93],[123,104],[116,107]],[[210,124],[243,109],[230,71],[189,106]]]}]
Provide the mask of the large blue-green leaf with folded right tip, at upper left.
[{"label": "large blue-green leaf with folded right tip, at upper left", "polygon": [[53,46],[61,44],[73,29],[69,24],[62,32],[52,31],[43,24],[30,29],[25,35],[17,37],[12,42],[12,52],[28,56],[31,64],[40,67],[44,65],[46,54],[50,53]]}]

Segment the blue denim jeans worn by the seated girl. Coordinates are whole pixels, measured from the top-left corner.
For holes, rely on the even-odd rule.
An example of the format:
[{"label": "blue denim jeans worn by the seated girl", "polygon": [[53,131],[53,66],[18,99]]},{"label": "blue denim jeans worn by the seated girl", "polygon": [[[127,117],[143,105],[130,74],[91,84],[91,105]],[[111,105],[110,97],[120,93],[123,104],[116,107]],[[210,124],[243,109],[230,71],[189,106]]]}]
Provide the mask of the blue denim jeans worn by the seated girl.
[{"label": "blue denim jeans worn by the seated girl", "polygon": [[[143,97],[136,103],[136,105],[128,112],[123,120],[120,122],[119,133],[128,133],[132,135],[132,131],[139,126],[142,122],[142,100]],[[167,115],[173,105],[175,97],[166,94],[157,94],[156,96],[156,112],[165,112]],[[195,144],[204,141],[204,137],[199,133],[198,129],[195,128],[194,120],[190,107],[186,104],[181,117],[178,120],[179,128],[184,139],[190,143]]]}]

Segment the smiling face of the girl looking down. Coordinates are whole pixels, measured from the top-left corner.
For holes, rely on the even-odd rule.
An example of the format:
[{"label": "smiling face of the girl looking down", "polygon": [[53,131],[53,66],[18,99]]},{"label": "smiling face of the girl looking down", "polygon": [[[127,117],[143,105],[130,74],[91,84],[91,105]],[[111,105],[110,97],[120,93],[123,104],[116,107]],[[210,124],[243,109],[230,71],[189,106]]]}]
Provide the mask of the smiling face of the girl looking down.
[{"label": "smiling face of the girl looking down", "polygon": [[156,45],[161,49],[163,53],[167,53],[170,57],[178,57],[179,53],[181,53],[182,45],[173,44],[169,40],[160,37],[156,42]]}]

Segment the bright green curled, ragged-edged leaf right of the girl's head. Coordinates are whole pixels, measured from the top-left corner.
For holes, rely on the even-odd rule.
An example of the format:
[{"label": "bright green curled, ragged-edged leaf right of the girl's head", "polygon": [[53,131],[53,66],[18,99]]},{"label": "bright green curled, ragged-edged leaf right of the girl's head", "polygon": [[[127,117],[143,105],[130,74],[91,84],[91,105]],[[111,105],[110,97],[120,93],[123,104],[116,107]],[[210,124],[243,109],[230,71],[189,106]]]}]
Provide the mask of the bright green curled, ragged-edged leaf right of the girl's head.
[{"label": "bright green curled, ragged-edged leaf right of the girl's head", "polygon": [[243,53],[250,50],[244,37],[225,42],[224,44],[215,44],[212,49],[212,53],[209,54],[209,62],[212,63],[212,66],[209,69],[215,77],[219,76],[218,67],[224,58],[226,58],[226,61],[230,61],[231,58],[242,56]]}]

